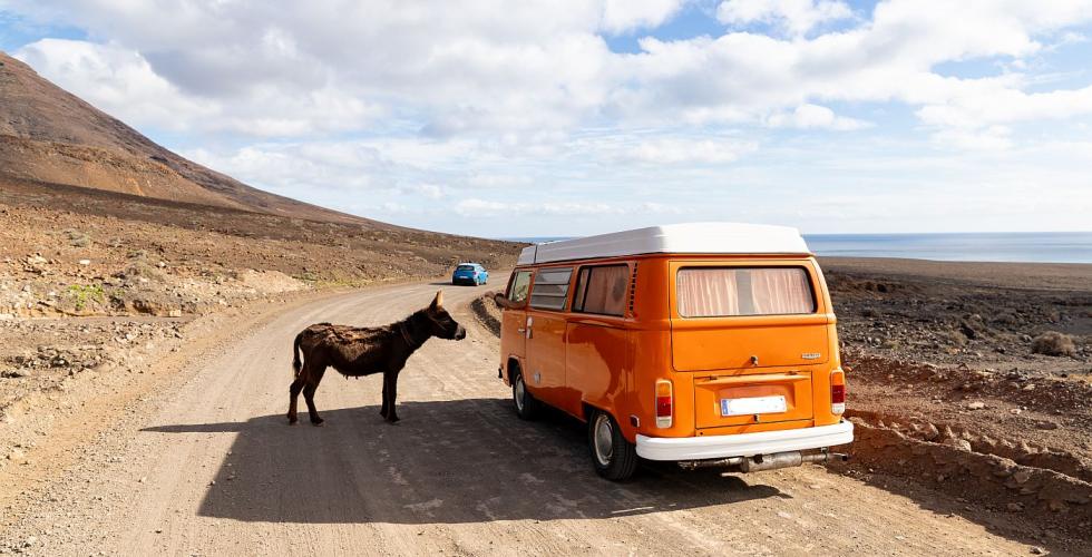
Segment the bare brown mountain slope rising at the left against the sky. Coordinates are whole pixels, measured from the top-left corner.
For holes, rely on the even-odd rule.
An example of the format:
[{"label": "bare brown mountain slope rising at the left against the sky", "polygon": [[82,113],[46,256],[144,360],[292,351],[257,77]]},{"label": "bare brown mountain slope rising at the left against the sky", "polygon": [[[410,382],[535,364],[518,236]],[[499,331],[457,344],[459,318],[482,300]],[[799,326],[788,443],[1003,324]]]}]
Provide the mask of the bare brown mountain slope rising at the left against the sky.
[{"label": "bare brown mountain slope rising at the left against the sky", "polygon": [[0,52],[0,176],[390,227],[250,187],[155,144]]}]

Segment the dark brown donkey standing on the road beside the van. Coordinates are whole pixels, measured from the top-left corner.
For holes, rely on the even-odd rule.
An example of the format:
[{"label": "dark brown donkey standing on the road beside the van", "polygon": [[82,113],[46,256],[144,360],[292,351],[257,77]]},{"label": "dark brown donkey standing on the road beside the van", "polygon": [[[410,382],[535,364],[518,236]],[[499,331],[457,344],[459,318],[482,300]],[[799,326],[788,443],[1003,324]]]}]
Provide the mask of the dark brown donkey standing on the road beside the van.
[{"label": "dark brown donkey standing on the road beside the van", "polygon": [[314,408],[314,391],[329,365],[347,378],[382,373],[383,407],[379,413],[388,422],[397,422],[398,372],[406,367],[410,354],[432,336],[457,341],[467,336],[467,330],[443,309],[443,292],[437,292],[428,307],[389,325],[357,328],[316,323],[304,329],[293,345],[295,380],[289,388],[289,423],[299,421],[296,400],[302,391],[311,423],[322,426],[323,420]]}]

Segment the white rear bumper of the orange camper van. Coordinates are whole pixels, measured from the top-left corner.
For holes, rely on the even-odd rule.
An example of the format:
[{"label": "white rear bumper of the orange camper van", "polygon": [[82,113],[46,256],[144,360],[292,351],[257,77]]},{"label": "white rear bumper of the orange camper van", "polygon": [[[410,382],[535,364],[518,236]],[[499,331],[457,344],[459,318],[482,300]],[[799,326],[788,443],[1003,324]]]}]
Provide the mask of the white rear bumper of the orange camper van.
[{"label": "white rear bumper of the orange camper van", "polygon": [[702,460],[753,457],[774,452],[820,449],[854,440],[854,424],[842,420],[832,426],[760,431],[735,436],[645,437],[637,436],[637,456],[647,460]]}]

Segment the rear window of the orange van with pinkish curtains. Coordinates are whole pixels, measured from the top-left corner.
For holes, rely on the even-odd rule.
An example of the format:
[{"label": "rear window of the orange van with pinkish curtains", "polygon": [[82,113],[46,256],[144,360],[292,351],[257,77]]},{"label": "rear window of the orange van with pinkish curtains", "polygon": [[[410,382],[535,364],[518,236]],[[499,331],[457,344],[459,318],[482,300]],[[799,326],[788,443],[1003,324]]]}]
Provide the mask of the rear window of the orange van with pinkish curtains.
[{"label": "rear window of the orange van with pinkish curtains", "polygon": [[802,267],[690,267],[675,276],[684,317],[788,315],[816,312]]}]

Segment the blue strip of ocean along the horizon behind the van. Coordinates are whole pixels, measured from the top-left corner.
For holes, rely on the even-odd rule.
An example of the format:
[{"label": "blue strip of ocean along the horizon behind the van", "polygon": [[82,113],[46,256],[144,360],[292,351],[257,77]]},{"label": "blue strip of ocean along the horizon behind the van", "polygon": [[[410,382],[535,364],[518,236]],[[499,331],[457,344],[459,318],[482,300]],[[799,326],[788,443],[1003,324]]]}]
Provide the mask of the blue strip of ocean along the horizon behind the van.
[{"label": "blue strip of ocean along the horizon behind the van", "polygon": [[[1092,232],[805,234],[817,255],[935,261],[1092,263]],[[542,243],[566,237],[504,238]]]}]

